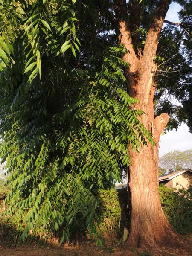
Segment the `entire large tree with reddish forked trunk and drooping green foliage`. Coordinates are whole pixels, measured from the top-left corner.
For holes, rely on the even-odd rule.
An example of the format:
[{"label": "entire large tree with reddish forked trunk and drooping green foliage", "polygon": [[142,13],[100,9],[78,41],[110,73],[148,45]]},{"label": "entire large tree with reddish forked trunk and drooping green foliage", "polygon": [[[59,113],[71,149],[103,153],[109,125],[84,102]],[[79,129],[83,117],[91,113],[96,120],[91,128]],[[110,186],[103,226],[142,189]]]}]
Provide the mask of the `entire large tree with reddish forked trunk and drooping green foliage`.
[{"label": "entire large tree with reddish forked trunk and drooping green foliage", "polygon": [[[170,25],[160,34],[171,0],[142,2],[130,0],[128,3],[126,0],[72,0],[65,1],[65,5],[62,1],[48,3],[46,0],[42,3],[35,0],[20,1],[17,4],[14,2],[11,5],[10,3],[1,9],[4,46],[1,52],[1,68],[4,72],[1,77],[1,136],[4,139],[2,154],[4,159],[6,157],[9,159],[11,180],[16,184],[9,198],[17,198],[17,201],[20,201],[24,195],[24,203],[21,203],[23,207],[26,206],[28,199],[32,200],[35,204],[33,212],[36,215],[34,217],[31,212],[27,215],[29,223],[32,221],[35,224],[47,223],[47,212],[42,219],[38,216],[37,209],[41,205],[44,205],[44,209],[45,206],[47,207],[44,198],[47,198],[50,188],[51,196],[49,194],[46,200],[51,198],[51,201],[55,201],[55,195],[58,195],[59,188],[63,185],[57,175],[55,177],[55,172],[58,174],[59,169],[61,170],[59,178],[62,177],[63,186],[67,187],[67,184],[70,184],[69,189],[71,189],[71,180],[75,184],[72,186],[72,194],[67,195],[64,191],[69,197],[69,201],[65,204],[66,209],[73,209],[70,206],[77,199],[71,195],[78,193],[81,195],[79,191],[83,188],[86,200],[82,201],[86,204],[81,214],[87,216],[90,227],[94,221],[92,217],[96,203],[93,190],[89,188],[102,186],[103,181],[108,182],[109,177],[118,176],[118,168],[115,168],[115,173],[109,171],[107,162],[117,167],[121,165],[119,159],[122,161],[126,159],[126,164],[131,160],[128,169],[131,193],[131,230],[128,244],[129,246],[147,244],[155,247],[157,241],[163,243],[174,233],[158,199],[158,142],[169,120],[166,113],[171,116],[169,128],[177,126],[180,121],[186,119],[186,116],[181,114],[181,108],[176,108],[169,101],[164,100],[165,97],[162,99],[162,95],[168,92],[181,99],[183,94],[186,94],[187,101],[187,97],[190,97],[191,74],[189,59],[185,58],[185,54],[180,50],[187,49],[183,50],[184,53],[190,51],[188,34],[185,35],[185,30],[177,29],[175,26],[173,29]],[[18,6],[18,3],[21,5]],[[189,1],[182,1],[183,10],[187,6],[186,3]],[[13,11],[10,12],[10,9]],[[183,13],[185,16],[186,12]],[[187,26],[187,23],[185,25]],[[190,26],[186,29],[190,34]],[[120,47],[117,47],[117,35],[119,35]],[[79,40],[80,53],[78,53]],[[87,42],[90,42],[90,45],[87,45]],[[7,50],[7,45],[11,52]],[[109,46],[113,46],[112,55],[110,58],[104,58]],[[182,69],[180,73],[175,72],[180,69]],[[169,72],[175,74],[172,79],[167,79]],[[84,96],[83,102],[78,96]],[[108,99],[112,102],[106,106]],[[99,102],[99,105],[96,102]],[[119,102],[128,104],[128,108],[124,110]],[[118,107],[114,107],[117,105]],[[12,106],[11,110],[10,106]],[[173,114],[175,110],[176,118]],[[111,111],[115,113],[113,118]],[[138,115],[147,130],[138,122],[136,118]],[[75,124],[73,120],[76,120]],[[109,136],[108,128],[111,129],[111,121],[114,120],[116,120],[112,124],[114,130],[111,130]],[[82,126],[89,131],[86,133],[86,138],[82,136],[84,132],[80,131]],[[93,131],[90,126],[96,132],[94,140],[99,137],[105,142],[108,136],[113,140],[108,140],[106,143],[99,143],[99,140],[96,140],[90,144],[88,138]],[[128,131],[126,127],[129,128]],[[104,131],[106,133],[102,133],[101,136],[96,128],[99,128],[100,133]],[[136,128],[136,133],[133,128]],[[118,131],[119,136],[113,137]],[[150,134],[153,136],[153,141],[150,140]],[[143,140],[142,148],[137,136]],[[8,140],[10,138],[11,143]],[[123,138],[123,141],[119,144],[120,138]],[[150,142],[147,143],[147,139]],[[15,141],[18,144],[17,148],[13,144]],[[46,143],[43,143],[44,141]],[[88,141],[89,146],[87,146]],[[128,157],[125,156],[127,142]],[[153,142],[156,143],[155,146]],[[98,151],[96,149],[97,153],[91,151],[93,154],[87,158],[91,145],[94,145]],[[134,145],[139,152],[133,151]],[[73,150],[74,147],[78,150]],[[102,167],[103,160],[99,161],[98,165],[101,156],[98,148],[103,149],[103,147],[106,149],[103,160],[109,160],[105,162],[108,170],[106,173],[105,168]],[[112,151],[116,149],[123,156],[113,154],[110,149]],[[107,152],[111,152],[110,155],[114,155],[116,160],[109,159]],[[81,164],[79,163],[81,157],[76,162],[76,156],[83,156],[84,160]],[[90,163],[92,159],[94,161]],[[86,168],[84,161],[89,168]],[[92,168],[92,164],[93,166],[95,164],[95,169]],[[23,167],[26,170],[25,175],[20,171]],[[78,173],[78,179],[74,179],[73,175],[70,175],[71,172]],[[32,174],[30,179],[27,173]],[[65,173],[67,177],[62,176]],[[44,181],[46,181],[46,191],[44,191]],[[33,194],[38,195],[42,191],[43,201],[40,198],[35,200]],[[89,197],[93,202],[88,200]],[[75,221],[74,216],[77,212],[73,210],[72,213],[69,210],[62,222],[63,219],[61,220],[60,217],[64,212],[61,212],[59,207],[63,199],[65,198],[61,198],[58,202],[58,206],[55,201],[56,214],[50,215],[49,218],[55,230],[60,222],[66,224],[64,228],[66,234],[67,228],[69,229],[70,224]],[[78,209],[81,209],[81,205],[77,205]],[[87,211],[88,205],[91,205],[90,208],[88,207],[91,214]],[[30,225],[26,232],[29,228]]]}]

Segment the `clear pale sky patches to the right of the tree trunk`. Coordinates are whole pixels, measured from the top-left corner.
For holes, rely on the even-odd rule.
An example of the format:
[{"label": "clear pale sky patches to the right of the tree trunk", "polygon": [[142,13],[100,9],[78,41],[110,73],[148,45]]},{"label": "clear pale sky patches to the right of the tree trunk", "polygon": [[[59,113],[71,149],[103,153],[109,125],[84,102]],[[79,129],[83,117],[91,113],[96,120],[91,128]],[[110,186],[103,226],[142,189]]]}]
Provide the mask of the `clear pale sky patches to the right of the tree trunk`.
[{"label": "clear pale sky patches to the right of the tree trunk", "polygon": [[[177,12],[180,10],[180,5],[172,3],[166,15],[166,20],[179,22]],[[159,156],[169,153],[173,150],[186,151],[192,149],[192,134],[189,133],[189,128],[182,123],[179,129],[169,131],[164,136],[160,137]]]}]

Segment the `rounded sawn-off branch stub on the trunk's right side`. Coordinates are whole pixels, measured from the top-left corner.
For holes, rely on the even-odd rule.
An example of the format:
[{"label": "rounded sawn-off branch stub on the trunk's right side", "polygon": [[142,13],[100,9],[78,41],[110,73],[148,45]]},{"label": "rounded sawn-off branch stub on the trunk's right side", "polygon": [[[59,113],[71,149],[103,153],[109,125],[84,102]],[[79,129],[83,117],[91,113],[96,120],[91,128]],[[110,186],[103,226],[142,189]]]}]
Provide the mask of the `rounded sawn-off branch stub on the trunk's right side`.
[{"label": "rounded sawn-off branch stub on the trunk's right side", "polygon": [[168,114],[160,114],[160,116],[155,117],[154,119],[154,141],[155,143],[159,143],[160,135],[165,129],[167,123],[169,121]]}]

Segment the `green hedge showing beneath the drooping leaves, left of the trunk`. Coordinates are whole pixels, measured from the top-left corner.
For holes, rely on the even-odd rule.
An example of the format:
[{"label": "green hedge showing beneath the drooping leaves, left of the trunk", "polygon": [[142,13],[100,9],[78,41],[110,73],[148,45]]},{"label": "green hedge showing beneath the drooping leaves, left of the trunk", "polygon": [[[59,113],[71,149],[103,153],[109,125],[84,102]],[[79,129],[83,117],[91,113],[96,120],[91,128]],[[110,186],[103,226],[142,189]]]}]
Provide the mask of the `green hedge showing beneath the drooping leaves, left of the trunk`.
[{"label": "green hedge showing beneath the drooping leaves, left of the trunk", "polygon": [[[6,187],[1,187],[1,194],[7,195],[8,191]],[[96,227],[99,235],[104,233],[113,233],[114,235],[119,232],[119,221],[121,216],[121,208],[119,205],[118,194],[115,189],[100,189],[96,195],[99,204],[96,209],[97,220]],[[1,201],[2,205],[4,201]],[[4,211],[6,207],[4,204]],[[0,241],[5,243],[12,241],[12,244],[19,245],[21,243],[20,236],[23,233],[25,224],[20,216],[14,215],[12,218],[6,218],[3,216],[3,211],[0,212]],[[87,225],[83,221],[82,215],[76,216],[76,225],[71,228],[71,239],[79,239],[86,234]],[[32,230],[32,235],[28,237],[29,241],[34,241],[43,238],[45,241],[54,237],[61,237],[60,231],[53,233],[51,226],[38,227]]]}]

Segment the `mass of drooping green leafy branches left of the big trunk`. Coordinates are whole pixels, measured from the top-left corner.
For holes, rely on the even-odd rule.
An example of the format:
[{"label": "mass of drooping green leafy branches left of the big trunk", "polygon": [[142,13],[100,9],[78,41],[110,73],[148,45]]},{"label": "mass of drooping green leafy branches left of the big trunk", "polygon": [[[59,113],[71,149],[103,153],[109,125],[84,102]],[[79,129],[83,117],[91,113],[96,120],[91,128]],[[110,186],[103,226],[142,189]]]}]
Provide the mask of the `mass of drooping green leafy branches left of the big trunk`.
[{"label": "mass of drooping green leafy branches left of the big trunk", "polygon": [[[62,229],[61,242],[68,240],[79,215],[91,235],[95,195],[128,166],[127,142],[137,150],[152,141],[138,121],[142,112],[129,108],[137,100],[125,90],[125,49],[86,49],[76,14],[89,16],[92,7],[81,1],[0,4],[0,157],[11,188],[6,214],[23,216],[23,239],[42,226]],[[97,37],[102,45],[105,37]]]}]

